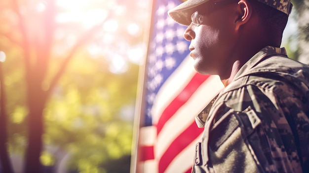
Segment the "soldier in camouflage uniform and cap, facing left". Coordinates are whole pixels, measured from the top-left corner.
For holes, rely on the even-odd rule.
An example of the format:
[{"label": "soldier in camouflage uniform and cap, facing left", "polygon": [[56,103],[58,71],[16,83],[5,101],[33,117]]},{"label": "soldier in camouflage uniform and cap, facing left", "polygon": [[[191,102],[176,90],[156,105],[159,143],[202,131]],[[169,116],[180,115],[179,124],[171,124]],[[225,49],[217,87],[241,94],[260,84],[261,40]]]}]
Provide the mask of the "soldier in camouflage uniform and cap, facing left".
[{"label": "soldier in camouflage uniform and cap, facing left", "polygon": [[170,17],[225,89],[196,116],[194,173],[309,173],[309,66],[279,48],[291,0],[187,0]]}]

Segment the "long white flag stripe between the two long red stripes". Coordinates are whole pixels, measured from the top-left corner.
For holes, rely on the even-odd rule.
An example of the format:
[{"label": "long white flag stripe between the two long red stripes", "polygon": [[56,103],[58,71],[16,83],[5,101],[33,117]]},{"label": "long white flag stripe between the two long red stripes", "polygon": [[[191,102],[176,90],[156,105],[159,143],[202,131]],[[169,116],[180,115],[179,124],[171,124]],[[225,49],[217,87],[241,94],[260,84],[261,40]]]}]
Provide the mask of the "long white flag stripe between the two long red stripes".
[{"label": "long white flag stripe between the two long red stripes", "polygon": [[160,158],[171,142],[194,121],[194,117],[223,89],[217,76],[210,76],[193,93],[186,104],[165,123],[154,145],[154,155]]}]

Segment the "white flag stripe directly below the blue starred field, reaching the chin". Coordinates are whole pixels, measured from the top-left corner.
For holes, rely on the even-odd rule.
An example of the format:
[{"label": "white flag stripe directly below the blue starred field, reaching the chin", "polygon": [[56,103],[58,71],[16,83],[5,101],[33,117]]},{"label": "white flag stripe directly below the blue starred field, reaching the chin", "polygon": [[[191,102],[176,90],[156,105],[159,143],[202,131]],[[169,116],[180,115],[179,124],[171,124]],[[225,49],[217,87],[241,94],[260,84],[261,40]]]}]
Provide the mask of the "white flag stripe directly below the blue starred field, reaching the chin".
[{"label": "white flag stripe directly below the blue starred field, reaching the chin", "polygon": [[166,105],[170,104],[182,89],[187,86],[195,73],[193,59],[188,55],[164,82],[157,93],[152,107],[153,124],[157,124]]}]

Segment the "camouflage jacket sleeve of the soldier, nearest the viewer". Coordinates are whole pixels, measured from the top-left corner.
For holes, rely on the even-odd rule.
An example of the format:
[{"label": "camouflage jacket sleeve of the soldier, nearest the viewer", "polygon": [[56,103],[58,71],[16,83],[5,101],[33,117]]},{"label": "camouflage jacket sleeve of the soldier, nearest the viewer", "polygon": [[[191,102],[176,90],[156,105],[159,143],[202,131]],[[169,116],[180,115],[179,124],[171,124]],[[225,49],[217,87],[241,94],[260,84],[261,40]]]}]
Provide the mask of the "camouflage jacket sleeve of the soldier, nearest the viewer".
[{"label": "camouflage jacket sleeve of the soldier, nearest the viewer", "polygon": [[247,85],[223,95],[214,105],[200,144],[204,170],[214,173],[302,172],[298,146],[286,119],[293,115],[288,115],[284,103],[271,87],[273,85],[263,83]]}]

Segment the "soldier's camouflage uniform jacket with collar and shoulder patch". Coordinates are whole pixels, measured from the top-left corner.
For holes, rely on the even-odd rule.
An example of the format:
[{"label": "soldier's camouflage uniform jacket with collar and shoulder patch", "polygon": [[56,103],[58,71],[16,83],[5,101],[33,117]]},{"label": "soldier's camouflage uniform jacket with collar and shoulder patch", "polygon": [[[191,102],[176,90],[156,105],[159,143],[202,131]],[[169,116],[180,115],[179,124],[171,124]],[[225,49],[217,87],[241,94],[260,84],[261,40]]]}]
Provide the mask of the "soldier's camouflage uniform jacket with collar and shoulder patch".
[{"label": "soldier's camouflage uniform jacket with collar and shoulder patch", "polygon": [[308,117],[309,66],[265,47],[196,117],[193,172],[309,173]]}]

